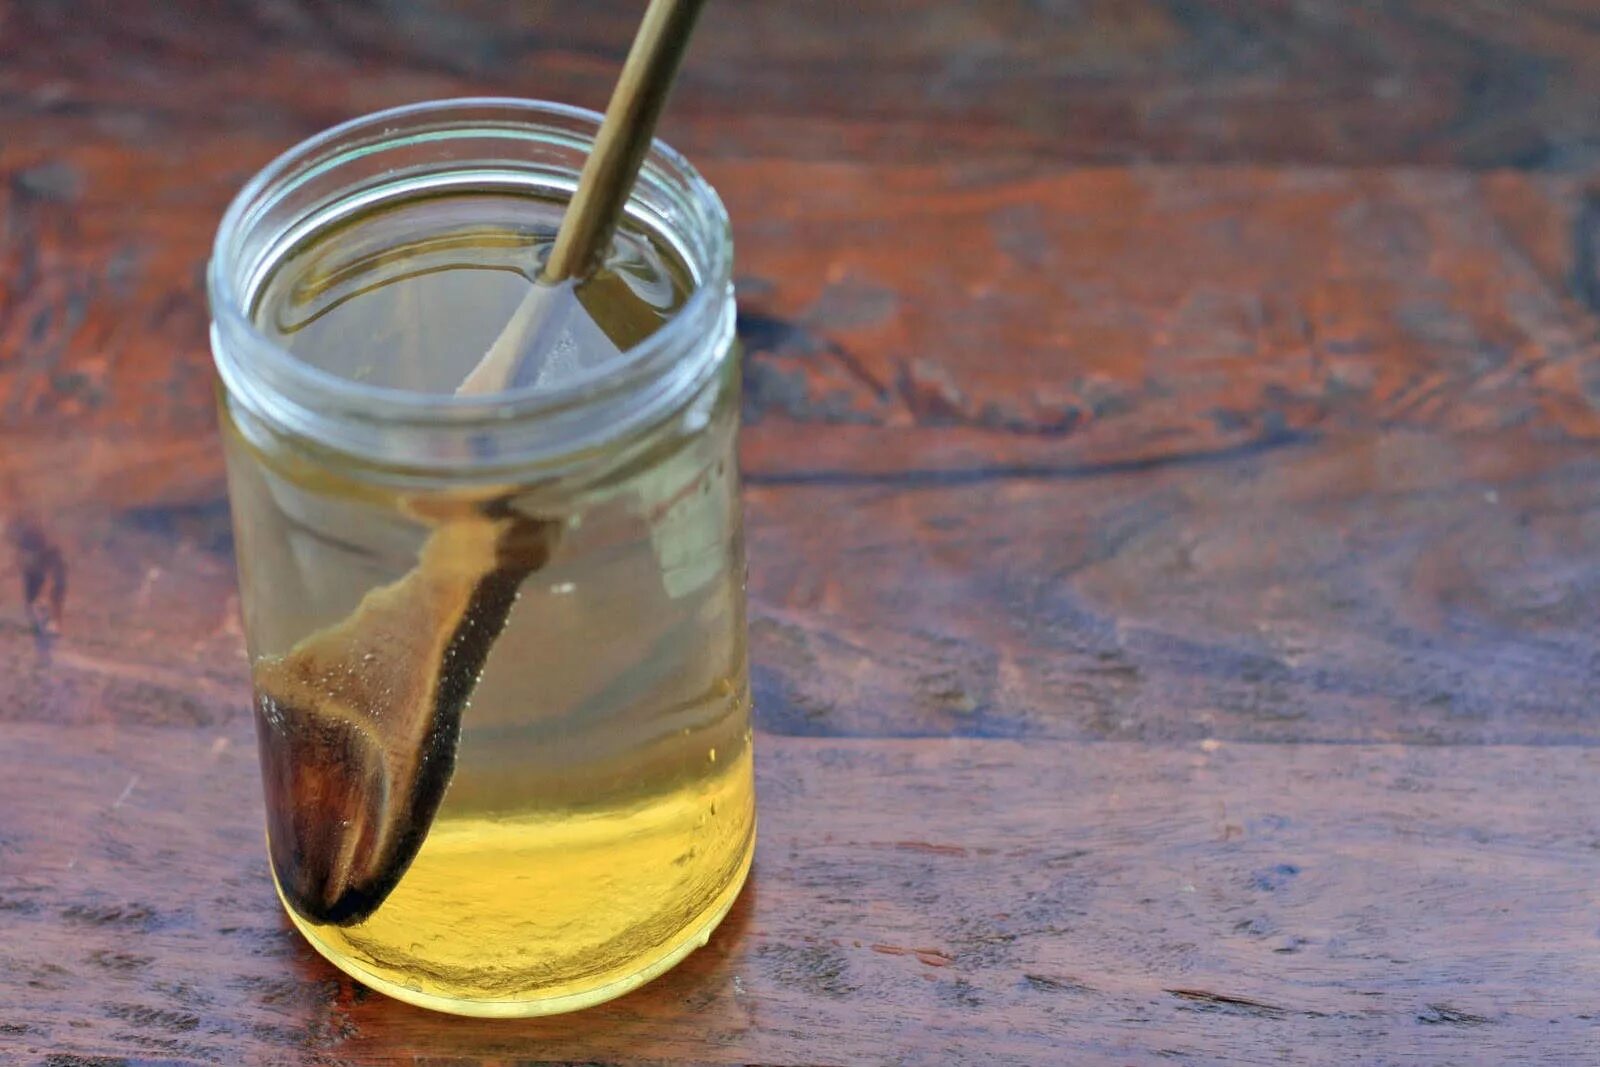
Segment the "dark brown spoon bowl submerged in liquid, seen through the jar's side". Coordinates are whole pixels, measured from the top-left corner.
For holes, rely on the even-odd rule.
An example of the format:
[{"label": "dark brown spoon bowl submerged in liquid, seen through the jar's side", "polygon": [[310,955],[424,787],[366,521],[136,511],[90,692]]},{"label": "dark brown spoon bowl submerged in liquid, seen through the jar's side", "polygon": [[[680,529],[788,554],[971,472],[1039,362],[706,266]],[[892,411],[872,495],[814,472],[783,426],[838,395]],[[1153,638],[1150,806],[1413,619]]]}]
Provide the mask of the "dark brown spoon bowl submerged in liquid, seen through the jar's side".
[{"label": "dark brown spoon bowl submerged in liquid, seen through the jar's side", "polygon": [[371,915],[450,784],[461,710],[560,523],[509,507],[442,525],[418,566],[254,670],[272,865],[314,923]]}]

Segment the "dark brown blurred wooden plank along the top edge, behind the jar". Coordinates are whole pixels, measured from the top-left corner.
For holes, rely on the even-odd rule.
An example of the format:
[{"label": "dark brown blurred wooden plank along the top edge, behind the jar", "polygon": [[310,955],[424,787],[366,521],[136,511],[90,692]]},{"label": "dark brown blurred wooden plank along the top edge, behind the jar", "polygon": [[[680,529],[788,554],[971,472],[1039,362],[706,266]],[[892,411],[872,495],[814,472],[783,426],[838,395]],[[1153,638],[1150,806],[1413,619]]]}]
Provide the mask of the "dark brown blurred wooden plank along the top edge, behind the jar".
[{"label": "dark brown blurred wooden plank along the top edge, behind the jar", "polygon": [[[622,0],[11,3],[0,120],[192,146],[438,96],[600,107],[635,19]],[[728,3],[667,133],[702,157],[1592,170],[1597,46],[1582,0]]]}]

